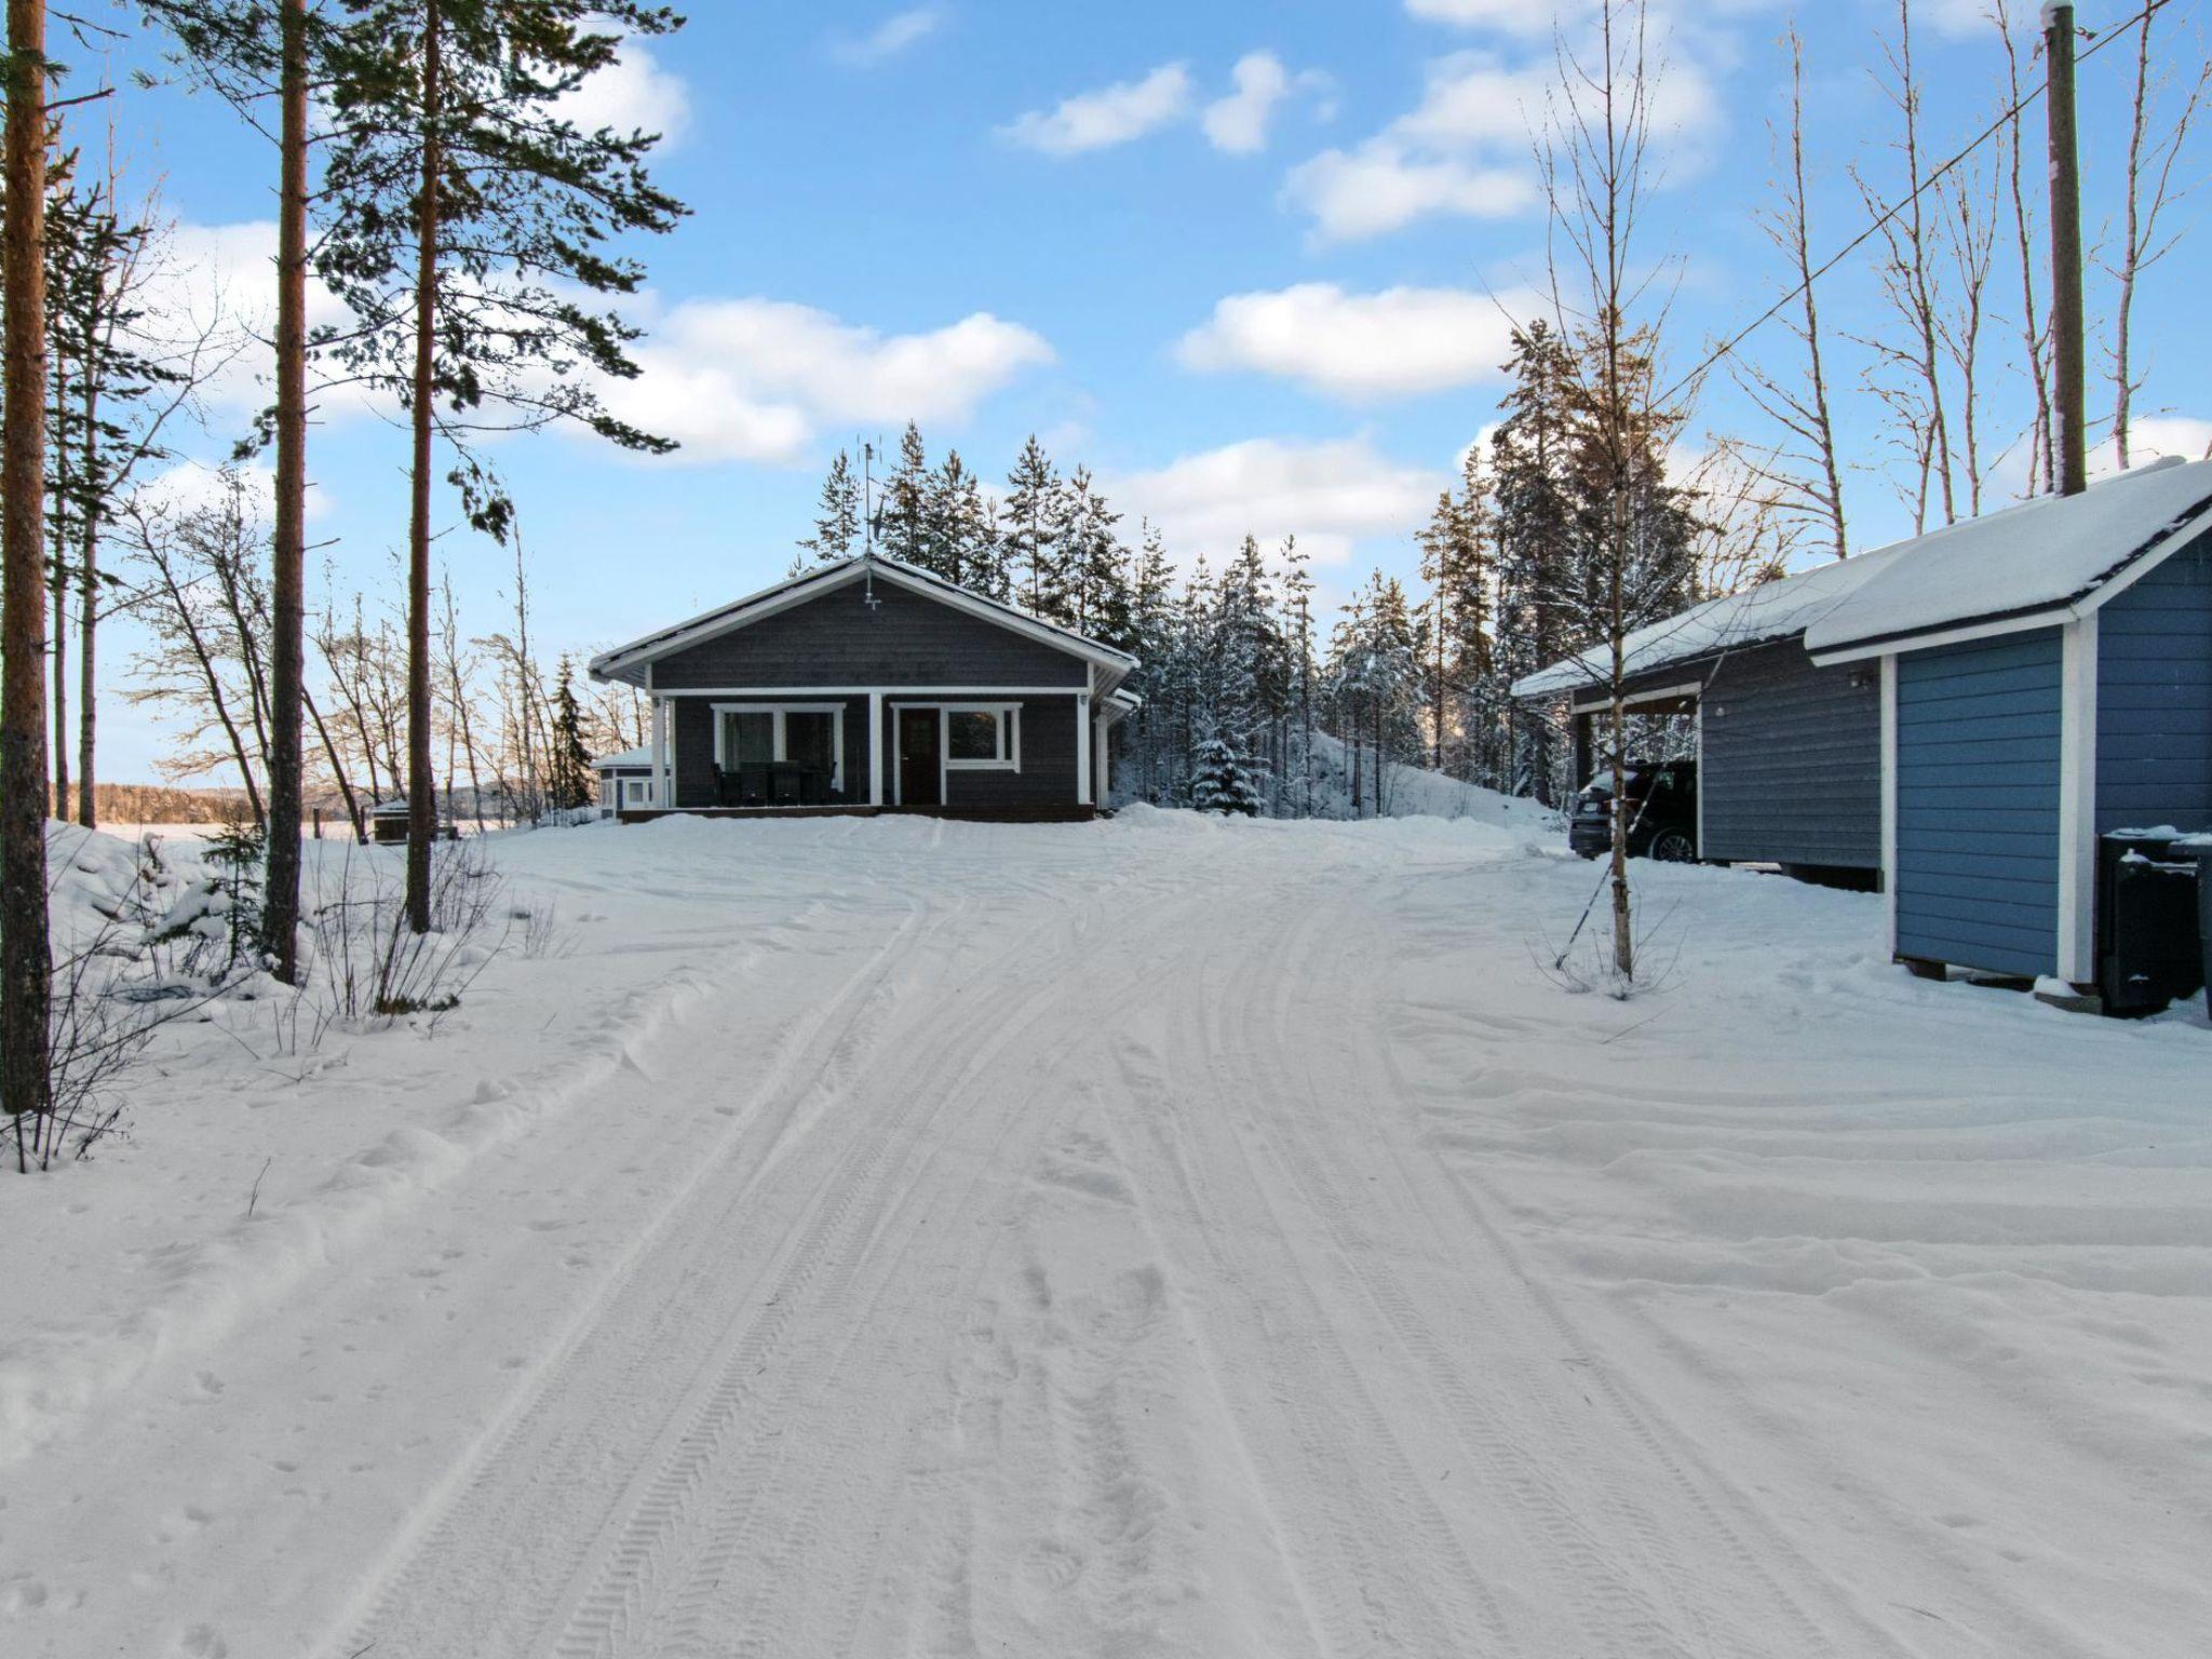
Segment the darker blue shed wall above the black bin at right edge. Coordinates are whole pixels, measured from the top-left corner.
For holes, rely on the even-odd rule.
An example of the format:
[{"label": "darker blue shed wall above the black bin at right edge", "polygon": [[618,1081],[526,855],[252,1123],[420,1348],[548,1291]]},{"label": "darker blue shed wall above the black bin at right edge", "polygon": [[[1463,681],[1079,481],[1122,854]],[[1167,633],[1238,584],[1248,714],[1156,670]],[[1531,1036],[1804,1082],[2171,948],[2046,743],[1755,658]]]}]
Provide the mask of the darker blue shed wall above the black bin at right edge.
[{"label": "darker blue shed wall above the black bin at right edge", "polygon": [[2212,538],[2097,613],[2097,834],[2212,830]]}]

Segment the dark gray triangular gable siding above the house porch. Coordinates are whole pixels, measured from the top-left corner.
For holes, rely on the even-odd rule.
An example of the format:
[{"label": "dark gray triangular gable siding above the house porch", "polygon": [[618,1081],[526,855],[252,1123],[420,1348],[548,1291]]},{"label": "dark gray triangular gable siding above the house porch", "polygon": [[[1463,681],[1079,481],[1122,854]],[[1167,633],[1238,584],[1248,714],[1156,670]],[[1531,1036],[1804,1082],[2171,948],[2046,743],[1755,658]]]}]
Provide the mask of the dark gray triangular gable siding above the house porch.
[{"label": "dark gray triangular gable siding above the house porch", "polygon": [[1088,664],[889,582],[845,582],[732,633],[659,657],[653,690],[734,686],[1068,686]]}]

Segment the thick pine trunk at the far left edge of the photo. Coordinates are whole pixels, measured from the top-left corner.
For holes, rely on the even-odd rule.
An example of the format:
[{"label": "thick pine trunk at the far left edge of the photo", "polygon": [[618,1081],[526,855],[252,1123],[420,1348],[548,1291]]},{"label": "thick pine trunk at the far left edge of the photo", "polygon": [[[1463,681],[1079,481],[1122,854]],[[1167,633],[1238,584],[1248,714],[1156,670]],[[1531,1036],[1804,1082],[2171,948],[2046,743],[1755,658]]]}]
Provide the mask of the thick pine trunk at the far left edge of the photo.
[{"label": "thick pine trunk at the far left edge of the photo", "polygon": [[0,1110],[44,1115],[46,1004],[46,4],[7,4],[0,177]]}]

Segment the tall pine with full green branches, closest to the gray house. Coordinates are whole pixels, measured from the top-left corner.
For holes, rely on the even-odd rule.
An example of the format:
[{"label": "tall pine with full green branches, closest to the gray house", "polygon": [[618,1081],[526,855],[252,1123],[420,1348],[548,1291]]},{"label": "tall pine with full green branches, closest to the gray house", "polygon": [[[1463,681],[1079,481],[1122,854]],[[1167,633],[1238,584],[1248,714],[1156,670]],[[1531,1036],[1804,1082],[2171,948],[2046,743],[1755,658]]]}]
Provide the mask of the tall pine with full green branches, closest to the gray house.
[{"label": "tall pine with full green branches, closest to the gray house", "polygon": [[513,502],[482,465],[484,431],[575,422],[648,453],[675,445],[617,418],[595,385],[637,374],[637,330],[586,296],[635,294],[644,268],[606,250],[668,232],[653,133],[580,131],[557,115],[624,33],[664,35],[641,0],[343,0],[352,73],[332,86],[332,234],[321,272],[358,330],[345,361],[409,409],[407,920],[429,931],[436,834],[429,699],[434,449],[469,522],[504,540]]}]

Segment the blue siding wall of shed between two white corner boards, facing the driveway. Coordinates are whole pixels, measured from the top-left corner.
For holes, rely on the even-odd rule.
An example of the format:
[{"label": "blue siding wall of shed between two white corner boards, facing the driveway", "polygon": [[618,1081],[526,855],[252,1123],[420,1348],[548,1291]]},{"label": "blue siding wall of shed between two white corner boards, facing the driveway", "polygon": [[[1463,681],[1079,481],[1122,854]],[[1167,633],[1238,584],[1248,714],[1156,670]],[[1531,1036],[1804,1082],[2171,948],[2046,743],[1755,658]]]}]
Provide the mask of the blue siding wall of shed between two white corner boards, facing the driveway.
[{"label": "blue siding wall of shed between two white corner boards, facing the driveway", "polygon": [[1896,949],[2057,967],[2057,628],[1898,655]]}]

